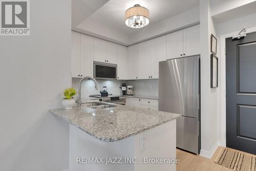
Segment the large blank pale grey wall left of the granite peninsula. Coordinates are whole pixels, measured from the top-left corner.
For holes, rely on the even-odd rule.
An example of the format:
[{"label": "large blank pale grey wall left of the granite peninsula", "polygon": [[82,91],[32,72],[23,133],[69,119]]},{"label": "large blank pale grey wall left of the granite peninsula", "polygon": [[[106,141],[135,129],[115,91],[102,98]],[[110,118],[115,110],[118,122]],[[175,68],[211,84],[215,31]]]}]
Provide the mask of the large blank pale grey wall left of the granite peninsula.
[{"label": "large blank pale grey wall left of the granite peninsula", "polygon": [[69,125],[48,112],[71,86],[71,0],[30,1],[30,36],[0,36],[0,170],[69,167]]}]

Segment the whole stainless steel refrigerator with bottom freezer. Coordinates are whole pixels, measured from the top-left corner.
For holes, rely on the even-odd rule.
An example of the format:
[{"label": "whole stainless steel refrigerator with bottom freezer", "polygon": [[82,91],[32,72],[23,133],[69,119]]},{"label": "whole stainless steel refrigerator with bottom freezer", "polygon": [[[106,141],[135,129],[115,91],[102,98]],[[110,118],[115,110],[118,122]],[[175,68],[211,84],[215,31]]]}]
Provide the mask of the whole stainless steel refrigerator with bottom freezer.
[{"label": "whole stainless steel refrigerator with bottom freezer", "polygon": [[177,147],[200,153],[200,56],[159,62],[159,111],[181,114]]}]

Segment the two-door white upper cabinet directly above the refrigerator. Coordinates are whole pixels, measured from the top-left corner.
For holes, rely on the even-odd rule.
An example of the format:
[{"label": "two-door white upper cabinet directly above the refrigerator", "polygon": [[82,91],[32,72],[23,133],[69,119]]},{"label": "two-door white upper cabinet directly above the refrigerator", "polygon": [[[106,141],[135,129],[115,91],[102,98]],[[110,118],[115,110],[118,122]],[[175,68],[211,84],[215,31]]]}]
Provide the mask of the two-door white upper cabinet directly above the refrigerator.
[{"label": "two-door white upper cabinet directly above the refrigerator", "polygon": [[200,26],[166,35],[166,59],[200,54]]}]

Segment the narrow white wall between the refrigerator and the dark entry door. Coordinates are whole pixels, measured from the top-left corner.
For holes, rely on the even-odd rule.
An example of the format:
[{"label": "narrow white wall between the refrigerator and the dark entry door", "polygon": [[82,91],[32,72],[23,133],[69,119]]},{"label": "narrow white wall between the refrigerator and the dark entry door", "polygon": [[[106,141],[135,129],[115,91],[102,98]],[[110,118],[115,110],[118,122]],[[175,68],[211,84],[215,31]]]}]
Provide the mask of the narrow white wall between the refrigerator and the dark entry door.
[{"label": "narrow white wall between the refrigerator and the dark entry door", "polygon": [[[218,90],[210,88],[210,34],[216,35],[208,0],[200,0],[201,155],[210,158],[218,144]],[[217,50],[218,51],[218,50]]]}]

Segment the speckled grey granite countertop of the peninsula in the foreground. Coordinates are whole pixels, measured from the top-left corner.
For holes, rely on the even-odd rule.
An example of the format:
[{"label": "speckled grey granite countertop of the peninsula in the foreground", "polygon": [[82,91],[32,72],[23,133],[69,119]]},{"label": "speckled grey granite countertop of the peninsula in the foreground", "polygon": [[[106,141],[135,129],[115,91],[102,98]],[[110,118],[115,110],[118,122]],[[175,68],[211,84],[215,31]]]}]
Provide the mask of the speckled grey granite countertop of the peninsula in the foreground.
[{"label": "speckled grey granite countertop of the peninsula in the foreground", "polygon": [[114,108],[53,109],[52,114],[105,142],[119,141],[178,118],[179,114],[115,104]]}]

